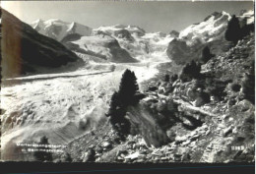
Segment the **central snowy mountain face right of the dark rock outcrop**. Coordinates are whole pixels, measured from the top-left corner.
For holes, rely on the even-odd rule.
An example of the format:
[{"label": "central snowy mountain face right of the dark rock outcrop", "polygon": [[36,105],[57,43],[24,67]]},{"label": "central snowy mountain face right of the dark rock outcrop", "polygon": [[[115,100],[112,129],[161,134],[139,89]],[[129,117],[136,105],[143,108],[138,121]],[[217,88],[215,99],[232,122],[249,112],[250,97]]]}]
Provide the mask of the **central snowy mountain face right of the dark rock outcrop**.
[{"label": "central snowy mountain face right of the dark rock outcrop", "polygon": [[121,47],[140,61],[166,61],[165,53],[169,41],[175,36],[163,32],[146,32],[136,26],[115,25],[94,29],[95,32],[104,32],[114,37]]}]

